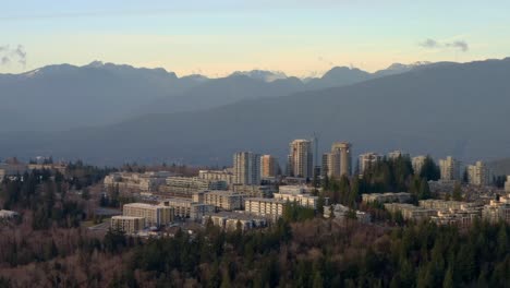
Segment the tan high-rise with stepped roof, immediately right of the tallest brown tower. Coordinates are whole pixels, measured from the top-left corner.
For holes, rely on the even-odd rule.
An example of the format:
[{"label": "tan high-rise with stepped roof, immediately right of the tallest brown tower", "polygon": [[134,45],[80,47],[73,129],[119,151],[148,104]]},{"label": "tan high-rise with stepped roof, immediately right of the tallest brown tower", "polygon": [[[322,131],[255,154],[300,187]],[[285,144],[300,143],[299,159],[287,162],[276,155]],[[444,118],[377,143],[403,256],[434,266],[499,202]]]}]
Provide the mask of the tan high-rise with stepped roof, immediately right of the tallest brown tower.
[{"label": "tan high-rise with stepped roof, immediately right of the tallest brown tower", "polygon": [[323,176],[339,179],[352,173],[351,144],[336,142],[331,145],[331,152],[323,155]]}]

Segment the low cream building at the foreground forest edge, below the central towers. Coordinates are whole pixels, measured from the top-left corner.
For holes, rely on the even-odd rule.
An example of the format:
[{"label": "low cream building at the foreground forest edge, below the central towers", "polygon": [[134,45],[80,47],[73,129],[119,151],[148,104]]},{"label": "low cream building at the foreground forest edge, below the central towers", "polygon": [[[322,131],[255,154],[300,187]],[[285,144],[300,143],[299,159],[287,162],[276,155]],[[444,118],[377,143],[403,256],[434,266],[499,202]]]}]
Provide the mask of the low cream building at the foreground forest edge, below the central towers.
[{"label": "low cream building at the foreground forest edge, below the central towers", "polygon": [[204,217],[204,224],[210,219],[215,226],[228,231],[234,231],[238,226],[241,230],[250,230],[267,226],[267,218],[242,212],[219,212]]}]

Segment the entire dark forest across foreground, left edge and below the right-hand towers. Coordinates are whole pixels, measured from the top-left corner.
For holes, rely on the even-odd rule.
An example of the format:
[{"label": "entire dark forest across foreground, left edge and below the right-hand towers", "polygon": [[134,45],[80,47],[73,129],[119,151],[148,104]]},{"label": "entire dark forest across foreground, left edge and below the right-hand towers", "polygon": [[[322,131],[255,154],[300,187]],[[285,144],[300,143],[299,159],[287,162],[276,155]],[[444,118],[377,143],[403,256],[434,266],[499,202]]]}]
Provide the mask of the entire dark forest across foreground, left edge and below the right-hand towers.
[{"label": "entire dark forest across foreground, left edge and below the right-hand towers", "polygon": [[[22,217],[0,226],[0,287],[509,287],[505,223],[476,221],[470,229],[360,224],[290,203],[282,218],[259,230],[223,231],[209,220],[167,238],[98,235],[80,225],[96,200],[70,193],[77,181],[85,189],[104,172],[93,171],[34,171],[2,181],[2,206]],[[434,163],[429,171],[414,175],[409,159],[386,159],[363,179],[325,179],[318,193],[385,218],[382,207],[361,204],[361,194],[402,190],[432,197],[426,179],[437,172]]]}]

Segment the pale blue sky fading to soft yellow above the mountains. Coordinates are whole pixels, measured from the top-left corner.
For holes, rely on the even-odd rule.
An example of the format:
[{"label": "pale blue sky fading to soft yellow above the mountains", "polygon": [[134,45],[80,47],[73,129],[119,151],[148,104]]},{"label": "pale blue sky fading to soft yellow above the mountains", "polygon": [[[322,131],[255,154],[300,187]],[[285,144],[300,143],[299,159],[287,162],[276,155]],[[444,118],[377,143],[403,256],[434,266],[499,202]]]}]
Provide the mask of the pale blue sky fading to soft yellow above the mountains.
[{"label": "pale blue sky fading to soft yellow above the mountains", "polygon": [[[3,2],[3,1],[2,1]],[[16,0],[0,9],[0,73],[94,60],[224,76],[510,56],[510,1]]]}]

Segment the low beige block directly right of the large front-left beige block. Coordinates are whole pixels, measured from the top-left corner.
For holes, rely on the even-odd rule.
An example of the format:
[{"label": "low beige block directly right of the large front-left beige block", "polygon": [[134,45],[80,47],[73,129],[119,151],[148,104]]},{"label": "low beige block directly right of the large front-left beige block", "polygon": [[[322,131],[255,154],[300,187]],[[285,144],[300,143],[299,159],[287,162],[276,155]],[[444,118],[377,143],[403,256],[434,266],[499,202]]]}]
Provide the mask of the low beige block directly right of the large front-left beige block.
[{"label": "low beige block directly right of the large front-left beige block", "polygon": [[191,199],[170,197],[163,200],[160,205],[172,207],[173,215],[180,218],[199,220],[204,215],[216,212],[212,205],[197,203]]}]

